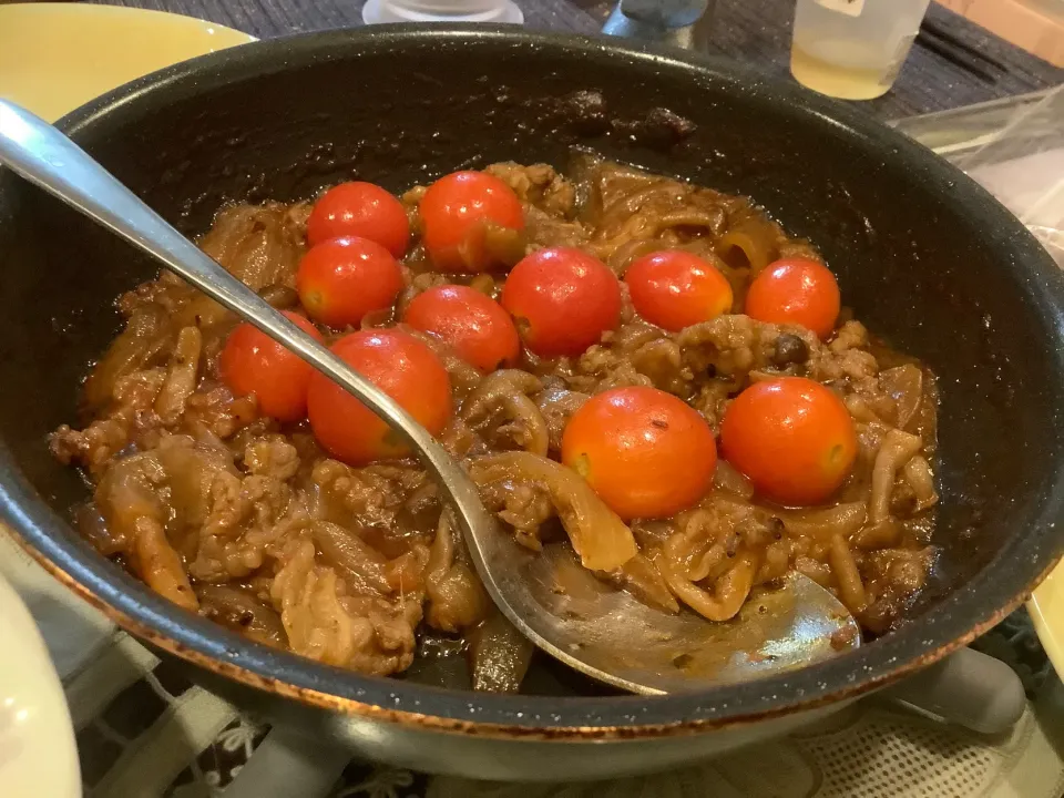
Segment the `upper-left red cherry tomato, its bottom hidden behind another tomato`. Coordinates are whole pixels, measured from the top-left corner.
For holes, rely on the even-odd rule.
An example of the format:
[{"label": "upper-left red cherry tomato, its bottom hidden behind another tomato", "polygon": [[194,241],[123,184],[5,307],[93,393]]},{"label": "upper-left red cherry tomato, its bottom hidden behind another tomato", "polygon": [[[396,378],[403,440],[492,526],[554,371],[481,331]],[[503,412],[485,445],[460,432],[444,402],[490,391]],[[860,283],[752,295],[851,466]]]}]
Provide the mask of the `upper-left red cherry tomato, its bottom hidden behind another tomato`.
[{"label": "upper-left red cherry tomato, its bottom hidden behind another tomato", "polygon": [[380,244],[401,258],[410,244],[407,209],[395,196],[372,183],[354,181],[329,188],[307,218],[307,243],[356,236]]}]

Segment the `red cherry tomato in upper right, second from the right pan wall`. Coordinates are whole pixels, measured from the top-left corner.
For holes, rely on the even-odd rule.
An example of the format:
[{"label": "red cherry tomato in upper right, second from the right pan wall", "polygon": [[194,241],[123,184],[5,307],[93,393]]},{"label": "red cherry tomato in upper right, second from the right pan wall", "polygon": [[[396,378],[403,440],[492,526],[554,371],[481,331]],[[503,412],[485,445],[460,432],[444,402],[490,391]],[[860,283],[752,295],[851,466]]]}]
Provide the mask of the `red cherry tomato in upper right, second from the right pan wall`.
[{"label": "red cherry tomato in upper right, second from the right pan wall", "polygon": [[732,309],[732,286],[712,264],[679,249],[644,255],[624,275],[636,313],[667,330]]}]

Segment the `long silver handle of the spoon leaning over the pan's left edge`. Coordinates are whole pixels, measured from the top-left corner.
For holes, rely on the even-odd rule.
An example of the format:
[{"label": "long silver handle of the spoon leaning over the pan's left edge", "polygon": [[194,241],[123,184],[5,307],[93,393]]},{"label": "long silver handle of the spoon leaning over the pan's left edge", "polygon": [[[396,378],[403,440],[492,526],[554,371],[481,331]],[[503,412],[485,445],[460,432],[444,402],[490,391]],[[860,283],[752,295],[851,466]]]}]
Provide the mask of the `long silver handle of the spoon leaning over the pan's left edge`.
[{"label": "long silver handle of the spoon leaning over the pan's left edge", "polygon": [[[398,430],[442,484],[470,548],[469,524],[493,524],[464,470],[391,397],[332,355],[226,272],[122,185],[74,142],[25,109],[0,100],[0,164],[154,256],[204,294],[250,321]],[[487,529],[487,526],[485,526]],[[479,552],[473,551],[474,564]]]}]

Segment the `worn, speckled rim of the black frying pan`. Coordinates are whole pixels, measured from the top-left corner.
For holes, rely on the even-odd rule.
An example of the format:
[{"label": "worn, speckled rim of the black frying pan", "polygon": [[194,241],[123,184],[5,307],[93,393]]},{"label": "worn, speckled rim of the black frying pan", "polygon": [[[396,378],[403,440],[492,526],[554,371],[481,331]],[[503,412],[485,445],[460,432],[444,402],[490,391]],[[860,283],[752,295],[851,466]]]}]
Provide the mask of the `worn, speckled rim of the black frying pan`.
[{"label": "worn, speckled rim of the black frying pan", "polygon": [[[797,85],[769,80],[724,59],[632,45],[601,38],[534,33],[508,27],[381,25],[372,31],[339,30],[252,42],[184,62],[134,81],[64,116],[58,126],[75,141],[95,125],[136,116],[153,103],[208,94],[235,80],[298,69],[325,59],[357,58],[359,52],[423,45],[550,50],[586,58],[652,63],[677,80],[713,80],[761,101],[788,102],[817,116],[838,135],[863,142],[883,157],[906,158],[939,184],[951,183],[950,196],[978,209],[1009,232],[1007,248],[1023,269],[1033,310],[1045,319],[1064,371],[1064,278],[1048,255],[1011,214],[984,190],[919,144],[855,109]],[[937,182],[937,183],[935,183]],[[1002,244],[1001,246],[1005,246]],[[970,642],[1020,605],[1060,557],[1064,519],[1064,472],[1047,485],[1040,523],[999,552],[1022,559],[993,590],[980,593],[972,583],[953,591],[927,615],[852,654],[744,685],[662,697],[540,697],[479,695],[443,690],[408,682],[367,677],[252,643],[187,613],[119,572],[86,544],[70,536],[69,526],[41,500],[0,444],[0,516],[42,564],[69,587],[104,610],[113,620],[154,645],[200,666],[308,704],[418,728],[479,736],[551,740],[634,739],[697,733],[811,709],[857,696],[941,658]],[[68,534],[50,530],[66,528]],[[1054,540],[1055,539],[1055,540]],[[999,563],[1000,564],[1000,563]],[[986,572],[995,569],[988,566]],[[996,569],[1001,571],[1002,569]],[[976,577],[975,582],[980,579]],[[986,581],[983,576],[982,581]],[[993,597],[992,597],[993,596]],[[960,612],[956,612],[960,610]],[[961,618],[964,620],[961,620]]]}]

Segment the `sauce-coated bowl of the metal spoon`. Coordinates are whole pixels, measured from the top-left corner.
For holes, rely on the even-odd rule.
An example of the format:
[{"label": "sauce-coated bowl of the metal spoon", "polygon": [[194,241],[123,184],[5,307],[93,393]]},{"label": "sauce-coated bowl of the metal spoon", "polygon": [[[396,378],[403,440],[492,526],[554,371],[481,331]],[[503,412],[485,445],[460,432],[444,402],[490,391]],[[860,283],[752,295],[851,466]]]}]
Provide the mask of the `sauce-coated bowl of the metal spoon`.
[{"label": "sauce-coated bowl of the metal spoon", "polygon": [[551,653],[571,667],[634,693],[748,682],[860,645],[853,616],[801,574],[775,590],[756,590],[734,620],[709,623],[613,589],[581,567],[567,544],[535,553],[507,535],[481,545],[522,631],[550,641]]}]

